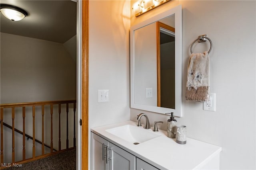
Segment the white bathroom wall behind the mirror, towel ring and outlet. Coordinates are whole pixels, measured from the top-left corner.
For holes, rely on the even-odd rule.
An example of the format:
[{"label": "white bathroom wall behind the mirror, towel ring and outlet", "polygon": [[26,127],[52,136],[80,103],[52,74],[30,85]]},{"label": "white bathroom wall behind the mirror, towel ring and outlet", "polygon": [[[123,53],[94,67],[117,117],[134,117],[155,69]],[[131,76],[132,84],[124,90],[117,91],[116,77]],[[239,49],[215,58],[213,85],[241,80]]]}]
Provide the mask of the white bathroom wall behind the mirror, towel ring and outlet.
[{"label": "white bathroom wall behind the mirror, towel ring and outlet", "polygon": [[[132,2],[131,2],[132,3]],[[182,4],[182,111],[176,117],[188,127],[188,137],[219,145],[221,169],[256,169],[255,165],[255,30],[256,1],[171,1],[135,18],[131,25]],[[190,45],[202,34],[213,42],[210,53],[210,90],[216,93],[216,111],[202,110],[202,103],[186,102],[186,72]],[[208,45],[194,45],[193,52],[208,50]],[[131,109],[131,120],[141,110]],[[150,122],[168,116],[143,111]],[[151,124],[152,126],[152,124]]]}]

